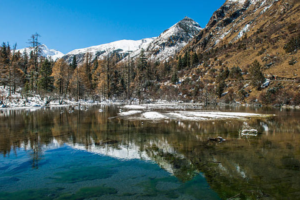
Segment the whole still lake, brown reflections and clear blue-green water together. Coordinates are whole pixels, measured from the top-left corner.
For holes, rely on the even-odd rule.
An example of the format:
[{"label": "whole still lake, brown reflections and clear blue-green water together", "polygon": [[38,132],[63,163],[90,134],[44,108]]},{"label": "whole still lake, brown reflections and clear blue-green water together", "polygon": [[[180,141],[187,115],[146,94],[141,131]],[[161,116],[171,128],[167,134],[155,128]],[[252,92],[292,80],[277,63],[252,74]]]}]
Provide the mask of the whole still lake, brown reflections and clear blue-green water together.
[{"label": "whole still lake, brown reflections and clear blue-green water together", "polygon": [[[154,122],[118,109],[1,111],[0,199],[300,199],[300,110]],[[240,137],[244,124],[260,134]]]}]

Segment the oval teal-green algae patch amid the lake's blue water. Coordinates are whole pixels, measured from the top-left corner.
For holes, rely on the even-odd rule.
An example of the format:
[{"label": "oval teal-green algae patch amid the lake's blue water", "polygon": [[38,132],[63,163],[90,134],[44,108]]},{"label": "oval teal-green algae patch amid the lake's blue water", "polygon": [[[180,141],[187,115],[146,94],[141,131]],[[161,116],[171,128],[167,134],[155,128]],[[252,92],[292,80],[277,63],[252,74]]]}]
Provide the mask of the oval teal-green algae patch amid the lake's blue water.
[{"label": "oval teal-green algae patch amid the lake's blue water", "polygon": [[98,167],[98,166],[89,166],[81,168],[71,168],[67,171],[60,171],[55,173],[59,177],[49,177],[54,179],[54,182],[60,183],[74,183],[86,180],[95,180],[108,178],[114,173],[114,170]]}]

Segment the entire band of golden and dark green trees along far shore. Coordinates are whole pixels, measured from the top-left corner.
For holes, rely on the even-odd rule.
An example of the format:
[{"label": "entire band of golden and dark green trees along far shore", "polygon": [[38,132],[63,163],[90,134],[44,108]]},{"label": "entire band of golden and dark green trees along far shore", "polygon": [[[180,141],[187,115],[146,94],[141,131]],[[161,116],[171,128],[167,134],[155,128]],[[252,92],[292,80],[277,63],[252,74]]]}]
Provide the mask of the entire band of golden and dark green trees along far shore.
[{"label": "entire band of golden and dark green trees along far shore", "polygon": [[[39,37],[37,33],[32,34],[28,42],[30,52],[22,54],[16,51],[16,44],[10,46],[3,42],[0,46],[0,85],[8,90],[8,97],[18,90],[23,99],[38,94],[46,103],[52,99],[63,103],[64,99],[130,101],[136,98],[139,102],[144,99],[193,100],[207,105],[245,99],[250,91],[243,87],[244,74],[257,90],[265,81],[257,60],[248,69],[238,66],[229,69],[214,56],[218,49],[203,53],[185,52],[167,61],[148,60],[144,49],[138,57],[127,61],[120,61],[122,57],[115,52],[107,52],[102,58],[85,53],[82,62],[77,63],[76,56],[73,56],[68,64],[63,58],[54,61],[42,57]],[[209,66],[211,60],[220,68]],[[199,64],[202,67],[197,67]],[[236,90],[232,89],[234,87]],[[271,103],[270,99],[274,97],[270,96],[281,95],[282,90],[278,86],[262,92],[258,99]],[[299,103],[296,100],[298,94],[285,92],[284,95],[281,95],[284,97],[281,97],[281,104]]]}]

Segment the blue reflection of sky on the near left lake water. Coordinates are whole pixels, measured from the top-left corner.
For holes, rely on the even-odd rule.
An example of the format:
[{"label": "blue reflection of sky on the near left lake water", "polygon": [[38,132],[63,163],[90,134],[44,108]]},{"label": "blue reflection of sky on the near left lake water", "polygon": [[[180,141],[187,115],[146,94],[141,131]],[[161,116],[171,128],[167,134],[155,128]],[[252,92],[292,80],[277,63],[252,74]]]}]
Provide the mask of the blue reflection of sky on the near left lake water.
[{"label": "blue reflection of sky on the near left lake water", "polygon": [[[97,196],[100,195],[99,189],[103,188],[97,188],[98,193],[93,193],[90,188],[105,185],[106,190],[110,188],[113,192],[101,197],[109,196],[109,199],[120,199],[122,195],[122,199],[144,199],[145,196],[149,199],[218,199],[202,175],[196,176],[191,182],[181,182],[153,162],[133,157],[119,160],[98,154],[101,152],[78,150],[79,146],[59,145],[55,140],[47,146],[41,145],[39,152],[36,152],[39,161],[35,166],[33,158],[36,155],[33,150],[25,150],[26,145],[5,157],[1,156],[0,194],[8,191],[10,196],[7,199],[11,199],[17,197],[15,191],[19,191],[26,199],[26,189],[32,189],[33,196],[29,197],[33,199],[35,190],[36,193],[44,192],[59,199],[70,193],[73,197],[79,196],[79,188],[87,188],[91,190],[90,195]],[[192,187],[200,191],[193,193],[190,190]],[[5,199],[3,196],[0,199]]]}]

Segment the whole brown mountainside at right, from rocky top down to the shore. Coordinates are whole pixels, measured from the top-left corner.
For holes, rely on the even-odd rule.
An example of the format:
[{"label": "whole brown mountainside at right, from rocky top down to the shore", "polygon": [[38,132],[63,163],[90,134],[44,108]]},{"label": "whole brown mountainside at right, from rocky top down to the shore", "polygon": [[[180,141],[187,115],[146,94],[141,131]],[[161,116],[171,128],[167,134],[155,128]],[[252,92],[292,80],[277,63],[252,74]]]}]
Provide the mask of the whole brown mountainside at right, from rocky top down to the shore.
[{"label": "whole brown mountainside at right, from rocky top down to the shore", "polygon": [[[217,88],[221,71],[238,66],[242,81],[226,78],[224,98],[265,103],[270,92],[273,96],[285,92],[282,98],[292,96],[300,92],[299,40],[299,0],[227,0],[178,53],[196,52],[199,58],[196,66],[181,71],[180,76],[194,75]],[[249,68],[254,60],[268,80],[260,88],[250,83]]]}]

